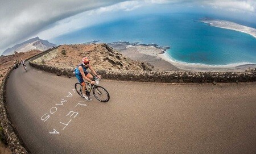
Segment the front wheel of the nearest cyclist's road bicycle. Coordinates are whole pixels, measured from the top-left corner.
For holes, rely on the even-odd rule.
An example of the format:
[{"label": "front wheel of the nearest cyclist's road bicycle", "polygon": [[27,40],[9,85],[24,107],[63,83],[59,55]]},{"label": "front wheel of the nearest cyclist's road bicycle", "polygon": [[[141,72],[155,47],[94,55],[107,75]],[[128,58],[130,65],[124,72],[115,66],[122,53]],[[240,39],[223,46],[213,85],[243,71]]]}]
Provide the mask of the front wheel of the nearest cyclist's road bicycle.
[{"label": "front wheel of the nearest cyclist's road bicycle", "polygon": [[110,99],[109,92],[102,86],[94,86],[93,95],[101,102],[108,102]]}]

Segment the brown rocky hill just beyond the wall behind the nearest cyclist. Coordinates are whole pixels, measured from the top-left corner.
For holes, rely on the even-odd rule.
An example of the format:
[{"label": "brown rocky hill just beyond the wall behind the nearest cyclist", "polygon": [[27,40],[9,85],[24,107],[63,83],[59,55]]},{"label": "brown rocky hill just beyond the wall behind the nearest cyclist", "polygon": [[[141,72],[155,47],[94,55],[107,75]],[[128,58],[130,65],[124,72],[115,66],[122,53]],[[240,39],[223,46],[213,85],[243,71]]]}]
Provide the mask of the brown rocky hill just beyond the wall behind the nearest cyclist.
[{"label": "brown rocky hill just beyond the wall behind the nearest cyclist", "polygon": [[107,44],[60,45],[53,52],[41,63],[59,68],[75,68],[81,64],[82,57],[88,56],[94,69],[152,70],[154,68],[151,64],[123,56]]}]

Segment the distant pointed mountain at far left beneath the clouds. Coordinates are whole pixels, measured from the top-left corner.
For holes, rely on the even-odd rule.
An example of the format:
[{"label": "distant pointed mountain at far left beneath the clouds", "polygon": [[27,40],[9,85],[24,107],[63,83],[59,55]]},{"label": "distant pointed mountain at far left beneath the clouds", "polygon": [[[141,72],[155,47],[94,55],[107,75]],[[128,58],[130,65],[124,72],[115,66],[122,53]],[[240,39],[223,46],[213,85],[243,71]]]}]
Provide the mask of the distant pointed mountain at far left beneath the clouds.
[{"label": "distant pointed mountain at far left beneath the clouds", "polygon": [[55,44],[49,43],[47,40],[39,39],[38,37],[16,44],[14,47],[6,49],[2,55],[11,55],[14,52],[27,52],[33,49],[46,51],[49,48],[56,47]]}]

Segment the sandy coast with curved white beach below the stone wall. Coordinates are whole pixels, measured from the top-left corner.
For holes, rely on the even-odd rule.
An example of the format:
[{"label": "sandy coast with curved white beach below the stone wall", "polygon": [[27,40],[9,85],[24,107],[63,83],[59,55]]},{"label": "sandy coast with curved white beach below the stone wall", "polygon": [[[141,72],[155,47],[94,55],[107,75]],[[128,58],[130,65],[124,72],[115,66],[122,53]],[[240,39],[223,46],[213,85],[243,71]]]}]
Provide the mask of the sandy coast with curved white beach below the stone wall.
[{"label": "sandy coast with curved white beach below the stone wall", "polygon": [[[129,41],[117,41],[108,43],[111,47],[117,49],[123,55],[134,60],[146,61],[159,70],[181,70],[196,72],[245,72],[246,69],[255,69],[256,64],[237,63],[228,65],[206,65],[183,63],[172,59],[166,50],[170,47],[161,47],[157,44],[139,44],[138,42],[129,43]],[[154,59],[154,60],[153,60]],[[169,66],[166,66],[169,65]]]}]

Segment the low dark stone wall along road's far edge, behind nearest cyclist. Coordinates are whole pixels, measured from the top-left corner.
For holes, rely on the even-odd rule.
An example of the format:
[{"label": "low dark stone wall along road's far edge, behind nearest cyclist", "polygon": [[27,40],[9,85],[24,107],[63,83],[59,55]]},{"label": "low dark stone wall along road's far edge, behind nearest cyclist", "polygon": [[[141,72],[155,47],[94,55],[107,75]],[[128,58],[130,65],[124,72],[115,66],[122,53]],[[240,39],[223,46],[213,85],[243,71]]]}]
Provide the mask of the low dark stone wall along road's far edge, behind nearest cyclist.
[{"label": "low dark stone wall along road's far edge, behind nearest cyclist", "polygon": [[[60,69],[55,66],[47,66],[34,63],[35,68],[58,76],[74,76],[73,69]],[[217,83],[217,82],[254,82],[256,72],[171,72],[171,71],[135,71],[135,70],[96,70],[102,77],[110,80],[141,81],[141,82],[168,82],[168,83]]]}]

